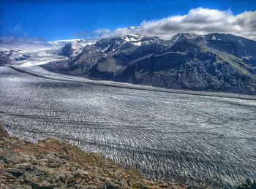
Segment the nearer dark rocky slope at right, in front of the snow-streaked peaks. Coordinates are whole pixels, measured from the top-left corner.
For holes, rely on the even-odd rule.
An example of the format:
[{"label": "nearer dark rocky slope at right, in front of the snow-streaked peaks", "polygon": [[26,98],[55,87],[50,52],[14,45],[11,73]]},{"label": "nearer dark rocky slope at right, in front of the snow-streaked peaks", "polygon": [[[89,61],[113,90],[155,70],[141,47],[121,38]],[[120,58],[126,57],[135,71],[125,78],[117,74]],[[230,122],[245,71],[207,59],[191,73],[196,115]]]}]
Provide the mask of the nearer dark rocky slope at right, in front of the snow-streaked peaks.
[{"label": "nearer dark rocky slope at right, in front of the snow-streaked peaks", "polygon": [[[172,60],[172,61],[170,61]],[[166,53],[129,64],[113,80],[191,90],[253,91],[255,68],[238,58],[179,42]]]}]

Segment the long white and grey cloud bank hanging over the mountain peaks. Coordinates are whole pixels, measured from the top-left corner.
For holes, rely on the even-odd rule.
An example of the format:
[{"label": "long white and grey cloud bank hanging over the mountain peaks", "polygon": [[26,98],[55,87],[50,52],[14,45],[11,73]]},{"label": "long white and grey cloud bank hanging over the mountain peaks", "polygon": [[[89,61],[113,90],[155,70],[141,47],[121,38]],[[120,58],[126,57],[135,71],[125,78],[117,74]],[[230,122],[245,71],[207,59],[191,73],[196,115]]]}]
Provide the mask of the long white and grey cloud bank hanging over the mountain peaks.
[{"label": "long white and grey cloud bank hanging over the mountain peaks", "polygon": [[148,20],[140,23],[135,29],[116,28],[94,31],[101,36],[116,36],[127,34],[143,34],[171,39],[177,33],[209,34],[228,33],[256,40],[256,11],[246,11],[233,15],[230,9],[196,8],[190,9],[187,15],[176,15],[160,20]]}]

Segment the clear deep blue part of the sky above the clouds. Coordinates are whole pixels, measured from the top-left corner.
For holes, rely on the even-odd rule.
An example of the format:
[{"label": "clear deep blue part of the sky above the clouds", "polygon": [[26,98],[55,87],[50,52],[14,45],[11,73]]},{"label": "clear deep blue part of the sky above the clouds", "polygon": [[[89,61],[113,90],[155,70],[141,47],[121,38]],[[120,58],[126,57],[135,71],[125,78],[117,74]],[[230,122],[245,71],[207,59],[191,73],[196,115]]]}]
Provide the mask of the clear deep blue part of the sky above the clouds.
[{"label": "clear deep blue part of the sky above the clouds", "polygon": [[186,15],[189,9],[255,11],[255,0],[207,1],[1,1],[0,36],[46,40],[90,37],[94,31],[140,26],[143,20]]}]

